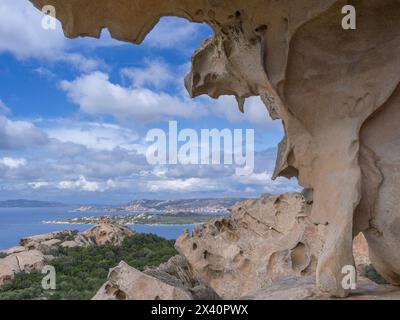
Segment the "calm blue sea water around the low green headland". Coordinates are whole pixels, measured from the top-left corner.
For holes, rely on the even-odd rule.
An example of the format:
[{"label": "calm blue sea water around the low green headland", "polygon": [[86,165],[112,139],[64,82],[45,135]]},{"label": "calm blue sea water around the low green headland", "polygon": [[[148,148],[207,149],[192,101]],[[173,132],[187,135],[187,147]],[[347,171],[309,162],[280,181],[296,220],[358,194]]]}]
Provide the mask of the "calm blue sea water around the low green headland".
[{"label": "calm blue sea water around the low green headland", "polygon": [[[24,237],[60,230],[84,231],[91,225],[44,224],[43,221],[67,218],[120,215],[121,212],[72,212],[75,208],[0,208],[0,250],[19,244]],[[135,225],[130,226],[140,233],[154,233],[166,239],[176,239],[184,231],[192,231],[195,225]]]}]

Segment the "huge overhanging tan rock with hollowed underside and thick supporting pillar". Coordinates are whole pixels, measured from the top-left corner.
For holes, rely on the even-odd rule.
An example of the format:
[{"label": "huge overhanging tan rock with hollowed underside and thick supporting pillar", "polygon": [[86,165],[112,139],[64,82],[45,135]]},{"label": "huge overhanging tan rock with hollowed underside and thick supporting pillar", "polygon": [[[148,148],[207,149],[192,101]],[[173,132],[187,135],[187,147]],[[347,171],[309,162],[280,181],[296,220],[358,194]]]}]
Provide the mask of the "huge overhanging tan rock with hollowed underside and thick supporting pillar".
[{"label": "huge overhanging tan rock with hollowed underside and thick supporting pillar", "polygon": [[326,225],[323,291],[346,296],[342,267],[363,232],[371,260],[400,284],[400,3],[354,0],[357,29],[336,0],[32,0],[53,5],[66,36],[140,43],[160,17],[208,23],[185,83],[192,96],[261,96],[282,119],[275,176],[313,189],[311,218]]}]

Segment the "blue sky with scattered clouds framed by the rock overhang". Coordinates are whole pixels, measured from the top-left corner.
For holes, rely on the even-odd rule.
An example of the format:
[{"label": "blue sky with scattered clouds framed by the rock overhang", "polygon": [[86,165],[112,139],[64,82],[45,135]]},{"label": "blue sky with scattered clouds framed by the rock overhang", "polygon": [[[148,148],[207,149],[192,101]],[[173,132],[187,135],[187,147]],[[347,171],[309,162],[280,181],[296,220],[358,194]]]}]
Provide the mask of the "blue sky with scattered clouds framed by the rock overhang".
[{"label": "blue sky with scattered clouds framed by the rock overhang", "polygon": [[[123,203],[135,198],[258,197],[297,188],[271,181],[282,138],[259,98],[191,99],[183,78],[206,25],[164,18],[140,46],[44,30],[27,0],[0,2],[0,200]],[[179,129],[255,130],[255,170],[151,166],[145,136]]]}]

